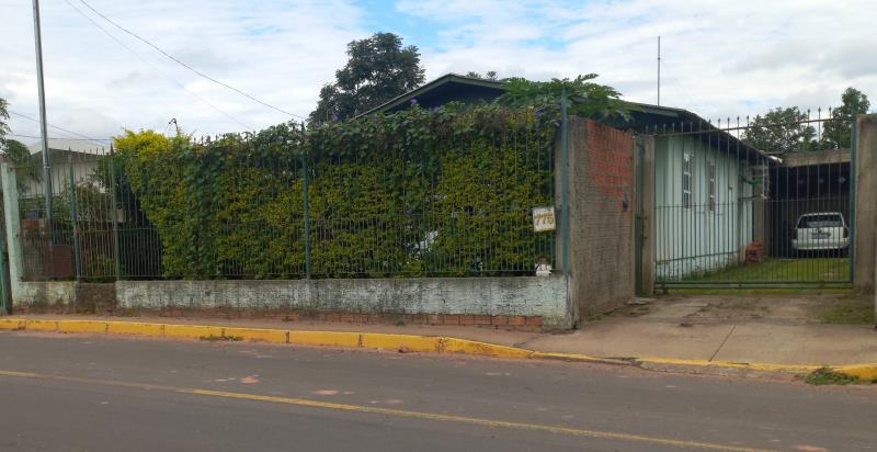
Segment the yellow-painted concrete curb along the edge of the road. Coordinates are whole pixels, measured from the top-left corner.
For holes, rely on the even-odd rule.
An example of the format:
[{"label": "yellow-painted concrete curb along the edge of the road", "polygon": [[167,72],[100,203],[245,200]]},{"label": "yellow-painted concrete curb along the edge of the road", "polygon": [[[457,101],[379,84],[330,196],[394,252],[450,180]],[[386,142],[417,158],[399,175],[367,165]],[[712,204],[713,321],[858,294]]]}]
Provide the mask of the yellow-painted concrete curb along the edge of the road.
[{"label": "yellow-painted concrete curb along the edge of the road", "polygon": [[[539,359],[599,364],[633,365],[653,371],[688,371],[707,374],[731,373],[779,373],[807,374],[821,365],[789,365],[771,363],[745,363],[729,361],[680,360],[670,358],[601,358],[576,353],[554,353],[499,346],[442,336],[392,335],[380,332],[303,331],[271,328],[238,328],[209,325],[176,325],[113,320],[42,320],[24,318],[0,318],[0,330],[25,330],[42,332],[89,332],[111,335],[136,335],[167,338],[219,338],[253,342],[291,343],[398,350],[403,352],[460,353],[478,357],[509,359]],[[864,381],[877,380],[877,363],[831,366],[835,372],[857,376]]]}]

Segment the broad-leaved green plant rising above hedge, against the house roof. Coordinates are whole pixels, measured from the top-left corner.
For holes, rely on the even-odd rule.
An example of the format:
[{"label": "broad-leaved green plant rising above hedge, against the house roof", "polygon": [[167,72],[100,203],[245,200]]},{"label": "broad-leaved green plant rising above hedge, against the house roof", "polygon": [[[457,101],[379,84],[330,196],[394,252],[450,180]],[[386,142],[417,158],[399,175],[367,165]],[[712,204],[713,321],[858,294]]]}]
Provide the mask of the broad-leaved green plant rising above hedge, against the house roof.
[{"label": "broad-leaved green plant rising above hedge, against the house roof", "polygon": [[551,116],[559,116],[560,98],[566,89],[570,100],[569,114],[595,121],[627,118],[629,108],[618,99],[622,94],[615,88],[591,81],[595,78],[596,74],[579,76],[573,80],[532,81],[520,77],[510,78],[505,81],[505,92],[496,102],[515,109],[536,108],[539,115],[550,113]]}]

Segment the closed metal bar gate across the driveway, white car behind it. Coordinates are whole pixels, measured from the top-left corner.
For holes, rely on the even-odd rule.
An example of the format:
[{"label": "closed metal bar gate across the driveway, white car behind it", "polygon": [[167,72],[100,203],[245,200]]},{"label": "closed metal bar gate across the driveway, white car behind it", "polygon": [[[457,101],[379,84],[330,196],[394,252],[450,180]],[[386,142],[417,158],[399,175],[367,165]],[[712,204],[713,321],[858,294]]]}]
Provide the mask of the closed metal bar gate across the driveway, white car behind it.
[{"label": "closed metal bar gate across the driveway, white car behind it", "polygon": [[650,131],[658,290],[852,285],[855,131],[821,115]]}]

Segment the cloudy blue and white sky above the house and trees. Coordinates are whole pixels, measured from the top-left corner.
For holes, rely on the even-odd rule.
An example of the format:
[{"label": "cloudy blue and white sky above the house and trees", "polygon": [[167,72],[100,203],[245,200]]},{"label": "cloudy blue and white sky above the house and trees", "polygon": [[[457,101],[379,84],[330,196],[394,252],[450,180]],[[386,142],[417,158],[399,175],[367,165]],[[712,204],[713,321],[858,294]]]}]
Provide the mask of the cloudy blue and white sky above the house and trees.
[{"label": "cloudy blue and white sky above the house and trees", "polygon": [[[707,118],[829,108],[856,87],[877,103],[874,0],[86,0],[175,58],[299,116],[346,61],[346,44],[392,32],[426,80],[496,70],[534,80],[595,72],[624,99]],[[291,116],[205,80],[105,22],[82,0],[42,0],[49,136],[124,128],[194,135]],[[30,0],[0,0],[0,98],[13,138],[36,139]],[[292,117],[293,120],[298,120]],[[60,127],[60,128],[56,128]],[[76,133],[78,135],[72,135]]]}]

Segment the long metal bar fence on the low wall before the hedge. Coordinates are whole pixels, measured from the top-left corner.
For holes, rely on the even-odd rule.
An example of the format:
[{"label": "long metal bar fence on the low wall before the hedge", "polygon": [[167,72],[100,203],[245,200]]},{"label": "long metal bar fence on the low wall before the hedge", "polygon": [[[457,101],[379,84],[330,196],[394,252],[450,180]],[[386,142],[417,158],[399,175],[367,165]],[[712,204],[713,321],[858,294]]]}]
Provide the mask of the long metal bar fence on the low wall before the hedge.
[{"label": "long metal bar fence on the low wall before the hedge", "polygon": [[33,155],[15,162],[25,278],[534,274],[555,265],[554,233],[533,230],[533,207],[555,203],[554,147],[537,127],[460,134],[423,161],[398,144],[351,159],[254,136],[186,140],[139,163],[55,149],[50,223]]}]

